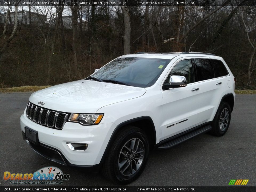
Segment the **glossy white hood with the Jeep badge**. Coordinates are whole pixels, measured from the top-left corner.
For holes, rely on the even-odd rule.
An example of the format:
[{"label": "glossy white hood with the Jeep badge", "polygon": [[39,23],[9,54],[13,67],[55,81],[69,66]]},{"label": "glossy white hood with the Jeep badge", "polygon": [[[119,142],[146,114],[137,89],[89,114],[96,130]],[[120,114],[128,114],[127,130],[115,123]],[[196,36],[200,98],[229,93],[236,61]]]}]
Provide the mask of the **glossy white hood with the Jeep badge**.
[{"label": "glossy white hood with the Jeep badge", "polygon": [[140,97],[145,92],[146,89],[140,87],[79,80],[39,90],[29,101],[56,111],[96,113],[103,106]]}]

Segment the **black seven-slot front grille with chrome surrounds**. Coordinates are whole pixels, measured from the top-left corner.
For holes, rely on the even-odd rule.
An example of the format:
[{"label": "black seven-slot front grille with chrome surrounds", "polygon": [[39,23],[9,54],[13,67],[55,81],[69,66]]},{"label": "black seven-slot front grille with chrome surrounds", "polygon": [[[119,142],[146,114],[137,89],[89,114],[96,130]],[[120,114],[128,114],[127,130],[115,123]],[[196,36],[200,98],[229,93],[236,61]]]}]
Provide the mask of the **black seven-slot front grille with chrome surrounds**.
[{"label": "black seven-slot front grille with chrome surrounds", "polygon": [[69,116],[68,113],[45,109],[30,102],[27,104],[26,115],[31,121],[54,129],[62,129]]}]

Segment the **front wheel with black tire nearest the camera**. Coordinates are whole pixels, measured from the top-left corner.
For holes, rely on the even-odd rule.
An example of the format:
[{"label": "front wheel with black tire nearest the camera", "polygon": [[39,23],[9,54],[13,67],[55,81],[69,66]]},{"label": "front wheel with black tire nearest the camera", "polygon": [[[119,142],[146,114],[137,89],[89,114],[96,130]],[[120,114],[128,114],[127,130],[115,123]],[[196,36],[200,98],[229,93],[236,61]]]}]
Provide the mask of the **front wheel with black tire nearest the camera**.
[{"label": "front wheel with black tire nearest the camera", "polygon": [[[103,163],[102,173],[112,182],[118,183],[119,185],[126,185],[141,175],[145,168],[148,155],[149,142],[144,131],[135,126],[126,126],[118,133],[112,143],[109,154]],[[126,167],[128,168],[125,169]]]}]

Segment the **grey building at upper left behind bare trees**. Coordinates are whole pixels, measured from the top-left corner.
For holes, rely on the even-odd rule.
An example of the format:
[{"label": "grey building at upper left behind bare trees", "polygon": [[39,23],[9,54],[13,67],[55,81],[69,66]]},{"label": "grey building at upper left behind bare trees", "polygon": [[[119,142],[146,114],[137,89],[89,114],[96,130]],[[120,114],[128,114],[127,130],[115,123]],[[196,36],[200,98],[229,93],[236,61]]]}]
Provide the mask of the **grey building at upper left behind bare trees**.
[{"label": "grey building at upper left behind bare trees", "polygon": [[[46,15],[42,15],[39,13],[34,13],[34,12],[29,12],[26,10],[18,11],[18,23],[21,25],[29,25],[29,14],[31,17],[31,24],[37,24],[37,25],[44,25],[47,23]],[[14,18],[15,18],[15,12],[11,12],[11,23],[14,23]],[[10,21],[9,21],[10,24]]]}]

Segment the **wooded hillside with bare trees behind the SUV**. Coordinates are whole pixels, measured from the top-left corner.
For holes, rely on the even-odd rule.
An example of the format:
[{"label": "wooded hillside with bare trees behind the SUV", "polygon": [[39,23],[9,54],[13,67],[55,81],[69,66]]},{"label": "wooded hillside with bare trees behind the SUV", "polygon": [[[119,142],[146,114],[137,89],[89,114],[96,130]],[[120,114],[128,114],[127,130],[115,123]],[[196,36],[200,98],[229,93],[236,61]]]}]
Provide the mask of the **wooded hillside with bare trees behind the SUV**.
[{"label": "wooded hillside with bare trees behind the SUV", "polygon": [[223,57],[237,88],[255,89],[255,6],[19,6],[17,14],[22,10],[29,22],[17,19],[14,31],[14,7],[0,8],[0,87],[85,78],[124,53],[195,51]]}]

